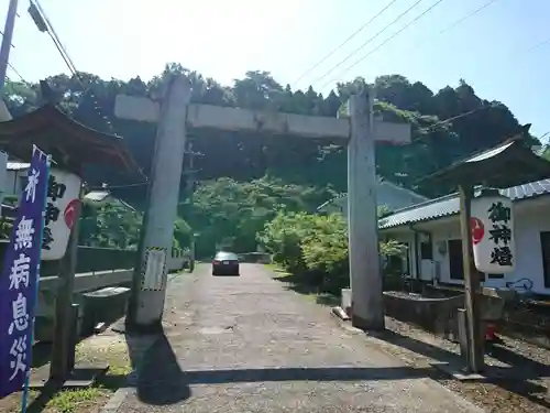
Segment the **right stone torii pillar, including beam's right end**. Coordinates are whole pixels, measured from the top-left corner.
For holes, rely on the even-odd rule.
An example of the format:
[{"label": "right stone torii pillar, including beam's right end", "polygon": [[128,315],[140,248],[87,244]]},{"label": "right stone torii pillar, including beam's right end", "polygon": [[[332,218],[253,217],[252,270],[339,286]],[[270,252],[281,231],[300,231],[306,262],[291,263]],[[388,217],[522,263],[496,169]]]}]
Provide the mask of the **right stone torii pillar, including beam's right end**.
[{"label": "right stone torii pillar, including beam's right end", "polygon": [[382,269],[378,251],[375,141],[410,142],[410,126],[373,117],[374,93],[350,97],[348,144],[348,232],[351,317],[354,327],[384,329]]}]

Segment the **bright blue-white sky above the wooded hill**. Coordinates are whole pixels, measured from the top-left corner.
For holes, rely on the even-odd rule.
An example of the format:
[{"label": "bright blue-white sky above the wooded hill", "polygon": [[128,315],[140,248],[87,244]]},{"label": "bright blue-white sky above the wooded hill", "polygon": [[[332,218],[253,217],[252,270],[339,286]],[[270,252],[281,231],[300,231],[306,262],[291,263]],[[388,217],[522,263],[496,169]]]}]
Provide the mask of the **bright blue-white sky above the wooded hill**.
[{"label": "bright blue-white sky above the wooded hill", "polygon": [[[460,78],[479,96],[508,105],[540,135],[550,131],[550,1],[497,0],[438,34],[488,0],[443,0],[350,70],[437,0],[422,0],[337,70],[319,77],[418,0],[398,0],[298,84],[295,80],[391,0],[42,0],[79,70],[103,78],[148,79],[179,62],[222,84],[246,70],[272,72],[282,84],[330,90],[337,80],[402,74],[432,90]],[[0,7],[6,18],[7,1]],[[529,3],[529,6],[527,6]],[[67,73],[50,37],[38,32],[20,0],[10,62],[28,80]],[[539,45],[538,47],[535,47]],[[535,48],[534,48],[535,47]],[[10,77],[16,76],[9,70]],[[326,85],[328,83],[328,85]]]}]

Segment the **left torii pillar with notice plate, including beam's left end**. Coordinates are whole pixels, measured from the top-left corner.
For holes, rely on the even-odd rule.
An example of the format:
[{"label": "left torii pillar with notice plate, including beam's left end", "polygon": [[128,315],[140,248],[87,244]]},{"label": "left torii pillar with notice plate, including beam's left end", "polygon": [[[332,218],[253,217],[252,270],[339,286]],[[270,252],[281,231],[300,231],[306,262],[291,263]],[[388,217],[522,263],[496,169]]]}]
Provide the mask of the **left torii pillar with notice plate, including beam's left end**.
[{"label": "left torii pillar with notice plate, including beam's left end", "polygon": [[117,117],[158,122],[144,232],[139,248],[140,264],[134,269],[132,297],[127,315],[129,330],[146,333],[162,328],[167,263],[172,253],[184,166],[186,111],[190,96],[189,80],[185,76],[173,76],[161,105],[145,98],[130,101],[124,101],[124,97],[117,98]]}]

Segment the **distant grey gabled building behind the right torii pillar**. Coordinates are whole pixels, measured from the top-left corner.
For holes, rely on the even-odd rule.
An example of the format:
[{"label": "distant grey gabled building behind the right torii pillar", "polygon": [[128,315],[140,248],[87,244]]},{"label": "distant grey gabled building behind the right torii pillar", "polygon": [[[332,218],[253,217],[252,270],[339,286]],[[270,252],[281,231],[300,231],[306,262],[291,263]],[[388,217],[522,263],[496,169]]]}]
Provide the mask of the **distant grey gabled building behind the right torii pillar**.
[{"label": "distant grey gabled building behind the right torii pillar", "polygon": [[[393,184],[387,180],[380,177],[377,180],[376,203],[378,206],[386,206],[389,210],[397,210],[426,200],[428,200],[427,197],[414,191]],[[343,216],[346,216],[348,194],[342,194],[339,197],[327,200],[317,210],[326,214],[341,213]]]}]

